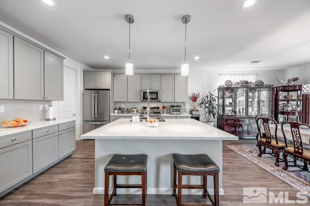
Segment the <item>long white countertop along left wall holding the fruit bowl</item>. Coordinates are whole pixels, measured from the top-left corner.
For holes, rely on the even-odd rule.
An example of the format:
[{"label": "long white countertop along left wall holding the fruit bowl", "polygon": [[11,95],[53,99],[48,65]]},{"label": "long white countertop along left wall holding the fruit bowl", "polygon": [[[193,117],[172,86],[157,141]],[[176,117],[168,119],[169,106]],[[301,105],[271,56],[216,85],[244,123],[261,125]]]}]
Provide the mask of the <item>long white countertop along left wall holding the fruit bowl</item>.
[{"label": "long white countertop along left wall holding the fruit bowl", "polygon": [[51,121],[46,120],[39,120],[39,121],[31,121],[28,125],[23,127],[12,127],[12,128],[6,128],[0,126],[0,136],[5,136],[9,134],[15,134],[18,132],[25,132],[29,130],[39,129],[42,127],[52,126],[55,124],[61,124],[69,121],[75,121],[76,118],[62,118],[62,119],[56,119]]}]

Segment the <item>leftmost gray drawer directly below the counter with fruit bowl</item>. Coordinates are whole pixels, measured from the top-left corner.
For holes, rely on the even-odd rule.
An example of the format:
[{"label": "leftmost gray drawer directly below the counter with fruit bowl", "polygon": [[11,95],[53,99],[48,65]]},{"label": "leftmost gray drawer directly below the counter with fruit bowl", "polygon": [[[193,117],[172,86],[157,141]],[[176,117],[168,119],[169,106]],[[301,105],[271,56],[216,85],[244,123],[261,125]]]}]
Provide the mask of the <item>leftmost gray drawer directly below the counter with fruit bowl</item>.
[{"label": "leftmost gray drawer directly below the counter with fruit bowl", "polygon": [[31,131],[6,135],[0,138],[0,148],[16,145],[31,140]]}]

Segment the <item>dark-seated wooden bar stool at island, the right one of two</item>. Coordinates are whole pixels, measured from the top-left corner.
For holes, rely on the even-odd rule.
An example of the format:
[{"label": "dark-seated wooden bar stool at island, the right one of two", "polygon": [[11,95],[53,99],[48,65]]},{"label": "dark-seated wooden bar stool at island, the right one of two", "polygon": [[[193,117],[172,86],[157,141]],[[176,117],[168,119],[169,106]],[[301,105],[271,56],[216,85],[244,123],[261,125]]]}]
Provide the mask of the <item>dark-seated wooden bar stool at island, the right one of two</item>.
[{"label": "dark-seated wooden bar stool at island, the right one of two", "polygon": [[[218,188],[218,173],[219,167],[206,154],[173,154],[173,196],[177,206],[182,205],[182,189],[203,189],[203,196],[208,196],[214,206],[219,206],[219,188]],[[176,183],[176,175],[178,171],[178,184]],[[202,185],[182,185],[183,175],[202,176]],[[214,200],[207,191],[207,176],[213,176],[214,181]],[[176,193],[178,189],[178,193]],[[206,206],[206,205],[202,205]]]}]

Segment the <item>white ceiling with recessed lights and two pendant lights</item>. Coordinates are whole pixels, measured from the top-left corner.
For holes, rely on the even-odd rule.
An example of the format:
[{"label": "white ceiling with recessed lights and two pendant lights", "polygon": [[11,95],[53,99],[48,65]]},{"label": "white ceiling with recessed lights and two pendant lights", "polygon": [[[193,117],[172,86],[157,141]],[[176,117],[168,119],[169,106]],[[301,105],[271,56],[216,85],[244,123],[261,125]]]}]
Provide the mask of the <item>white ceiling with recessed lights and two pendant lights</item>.
[{"label": "white ceiling with recessed lights and two pendant lights", "polygon": [[[94,69],[283,69],[310,62],[310,0],[0,0],[0,21]],[[108,55],[110,59],[104,59]],[[201,59],[194,60],[195,56]],[[249,62],[261,60],[257,64]]]}]

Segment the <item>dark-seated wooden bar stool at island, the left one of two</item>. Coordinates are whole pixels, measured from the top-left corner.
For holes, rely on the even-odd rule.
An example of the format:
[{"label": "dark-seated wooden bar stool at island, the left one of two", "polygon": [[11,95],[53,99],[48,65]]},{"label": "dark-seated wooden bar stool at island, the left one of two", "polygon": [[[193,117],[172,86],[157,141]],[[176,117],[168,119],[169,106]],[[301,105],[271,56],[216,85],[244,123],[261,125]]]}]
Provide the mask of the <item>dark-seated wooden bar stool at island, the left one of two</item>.
[{"label": "dark-seated wooden bar stool at island, the left one of two", "polygon": [[[105,171],[105,199],[104,206],[109,206],[112,197],[116,195],[117,188],[141,188],[142,189],[142,204],[145,206],[146,196],[146,165],[147,155],[145,154],[114,154],[108,164]],[[113,176],[113,191],[109,197],[109,176]],[[123,175],[140,175],[141,184],[116,184],[116,176]],[[117,205],[117,204],[113,204]],[[129,205],[129,204],[126,204]],[[134,204],[137,205],[137,204]]]}]

